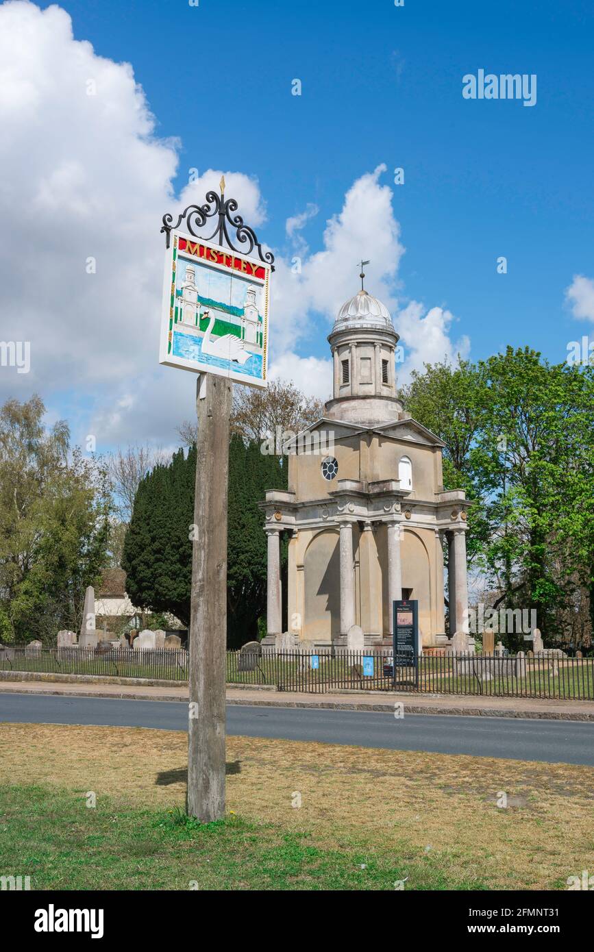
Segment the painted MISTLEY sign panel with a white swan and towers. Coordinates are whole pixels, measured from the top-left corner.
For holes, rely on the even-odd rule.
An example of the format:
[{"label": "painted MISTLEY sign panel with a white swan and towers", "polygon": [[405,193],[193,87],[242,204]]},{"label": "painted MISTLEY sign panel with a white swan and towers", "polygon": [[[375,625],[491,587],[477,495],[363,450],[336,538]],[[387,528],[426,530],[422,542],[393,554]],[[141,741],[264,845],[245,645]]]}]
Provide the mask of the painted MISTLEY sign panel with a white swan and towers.
[{"label": "painted MISTLEY sign panel with a white swan and towers", "polygon": [[159,362],[267,387],[270,266],[172,230]]}]

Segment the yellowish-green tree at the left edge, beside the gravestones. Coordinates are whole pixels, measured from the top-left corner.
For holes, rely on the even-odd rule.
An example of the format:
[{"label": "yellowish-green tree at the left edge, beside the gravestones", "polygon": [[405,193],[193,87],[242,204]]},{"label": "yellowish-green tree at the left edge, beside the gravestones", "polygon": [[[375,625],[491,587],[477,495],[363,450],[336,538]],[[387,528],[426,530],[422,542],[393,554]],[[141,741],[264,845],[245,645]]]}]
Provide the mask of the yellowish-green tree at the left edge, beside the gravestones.
[{"label": "yellowish-green tree at the left edge, beside the gravestones", "polygon": [[0,637],[16,642],[76,630],[109,531],[105,467],[44,414],[37,395],[0,409]]}]

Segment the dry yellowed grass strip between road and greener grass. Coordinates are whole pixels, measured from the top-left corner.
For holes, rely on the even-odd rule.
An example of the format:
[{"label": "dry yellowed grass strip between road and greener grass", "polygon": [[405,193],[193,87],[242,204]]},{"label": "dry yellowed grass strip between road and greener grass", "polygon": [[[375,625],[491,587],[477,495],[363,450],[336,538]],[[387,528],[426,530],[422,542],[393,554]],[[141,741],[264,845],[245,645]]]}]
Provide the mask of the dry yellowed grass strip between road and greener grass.
[{"label": "dry yellowed grass strip between road and greener grass", "polygon": [[[0,724],[0,783],[183,807],[187,744],[165,730]],[[324,849],[421,859],[448,883],[493,889],[562,888],[594,868],[590,767],[242,737],[227,749],[228,809]]]}]

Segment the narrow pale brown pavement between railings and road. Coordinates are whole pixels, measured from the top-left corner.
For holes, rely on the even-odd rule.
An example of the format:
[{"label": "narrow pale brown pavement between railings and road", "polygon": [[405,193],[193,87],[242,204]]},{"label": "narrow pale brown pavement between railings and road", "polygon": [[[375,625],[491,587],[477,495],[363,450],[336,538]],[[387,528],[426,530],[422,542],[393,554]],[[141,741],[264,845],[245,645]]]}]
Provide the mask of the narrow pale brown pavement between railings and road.
[{"label": "narrow pale brown pavement between railings and road", "polygon": [[[188,702],[188,685],[104,684],[40,681],[0,681],[0,694],[62,695],[82,698],[119,698],[133,701]],[[420,695],[408,692],[342,691],[306,694],[255,685],[228,686],[227,703],[261,707],[308,707],[333,710],[394,712],[404,704],[410,714],[505,717],[553,721],[594,722],[594,702],[537,698],[496,698],[477,695]]]}]

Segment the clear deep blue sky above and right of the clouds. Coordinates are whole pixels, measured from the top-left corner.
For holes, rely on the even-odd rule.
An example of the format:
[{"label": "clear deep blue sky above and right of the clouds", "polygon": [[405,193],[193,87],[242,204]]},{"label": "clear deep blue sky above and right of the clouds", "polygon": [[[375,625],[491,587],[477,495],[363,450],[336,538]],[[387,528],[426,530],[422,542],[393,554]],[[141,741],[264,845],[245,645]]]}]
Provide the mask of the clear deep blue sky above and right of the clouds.
[{"label": "clear deep blue sky above and right of the clouds", "polygon": [[[77,38],[132,64],[158,133],[182,138],[182,184],[191,167],[257,176],[271,245],[283,247],[287,217],[312,202],[315,250],[352,181],[385,162],[405,169],[393,203],[402,291],[449,307],[473,357],[529,344],[563,360],[587,333],[564,288],[594,271],[590,3],[62,6]],[[462,76],[479,68],[536,73],[536,106],[465,101]],[[353,250],[355,289],[366,249]],[[307,343],[325,354],[324,337]]]}]

